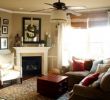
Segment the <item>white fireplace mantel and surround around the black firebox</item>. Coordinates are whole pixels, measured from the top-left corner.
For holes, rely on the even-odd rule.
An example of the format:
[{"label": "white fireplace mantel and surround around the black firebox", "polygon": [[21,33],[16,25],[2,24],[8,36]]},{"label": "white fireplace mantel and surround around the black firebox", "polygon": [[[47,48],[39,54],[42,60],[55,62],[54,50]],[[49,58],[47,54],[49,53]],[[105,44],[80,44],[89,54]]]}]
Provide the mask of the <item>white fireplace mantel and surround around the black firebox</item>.
[{"label": "white fireplace mantel and surround around the black firebox", "polygon": [[13,47],[16,51],[16,65],[22,66],[23,54],[41,54],[42,58],[42,71],[43,75],[48,73],[48,50],[50,47]]}]

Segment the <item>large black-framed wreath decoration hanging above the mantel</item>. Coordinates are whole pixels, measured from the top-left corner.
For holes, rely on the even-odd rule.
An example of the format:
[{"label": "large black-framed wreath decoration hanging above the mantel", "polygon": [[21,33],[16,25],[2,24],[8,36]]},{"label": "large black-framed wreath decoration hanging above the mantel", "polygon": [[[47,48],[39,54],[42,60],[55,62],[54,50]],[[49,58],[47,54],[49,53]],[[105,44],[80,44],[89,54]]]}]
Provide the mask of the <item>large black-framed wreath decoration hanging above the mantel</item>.
[{"label": "large black-framed wreath decoration hanging above the mantel", "polygon": [[41,19],[23,17],[23,43],[39,43],[41,41]]}]

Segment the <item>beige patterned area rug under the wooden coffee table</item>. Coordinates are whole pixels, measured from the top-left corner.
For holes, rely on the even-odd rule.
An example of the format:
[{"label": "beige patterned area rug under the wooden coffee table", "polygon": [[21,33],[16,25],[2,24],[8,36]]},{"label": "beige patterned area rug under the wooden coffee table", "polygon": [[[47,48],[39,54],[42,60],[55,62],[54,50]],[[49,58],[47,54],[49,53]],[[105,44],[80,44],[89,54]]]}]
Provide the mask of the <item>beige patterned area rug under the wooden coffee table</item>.
[{"label": "beige patterned area rug under the wooden coffee table", "polygon": [[[68,100],[65,93],[57,100]],[[1,99],[4,98],[4,99]],[[0,100],[53,100],[37,93],[37,78],[24,80],[22,84],[14,84],[0,89]]]}]

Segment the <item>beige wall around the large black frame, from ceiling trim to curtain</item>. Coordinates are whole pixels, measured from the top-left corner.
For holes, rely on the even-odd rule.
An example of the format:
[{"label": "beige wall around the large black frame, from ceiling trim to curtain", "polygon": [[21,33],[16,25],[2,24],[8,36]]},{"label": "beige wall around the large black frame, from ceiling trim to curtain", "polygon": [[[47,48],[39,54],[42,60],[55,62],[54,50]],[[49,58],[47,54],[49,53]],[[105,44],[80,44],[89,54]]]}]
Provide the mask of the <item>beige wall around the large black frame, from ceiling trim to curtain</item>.
[{"label": "beige wall around the large black frame, from ceiling trim to curtain", "polygon": [[[49,63],[50,67],[57,67],[57,28],[56,25],[50,22],[49,15],[35,15],[35,14],[11,14],[6,12],[0,12],[1,18],[9,19],[9,48],[11,49],[14,44],[14,37],[16,34],[22,36],[22,17],[36,17],[41,18],[41,39],[44,39],[44,34],[48,32],[51,35],[53,47],[49,50]],[[34,46],[34,44],[24,44],[24,46]]]}]

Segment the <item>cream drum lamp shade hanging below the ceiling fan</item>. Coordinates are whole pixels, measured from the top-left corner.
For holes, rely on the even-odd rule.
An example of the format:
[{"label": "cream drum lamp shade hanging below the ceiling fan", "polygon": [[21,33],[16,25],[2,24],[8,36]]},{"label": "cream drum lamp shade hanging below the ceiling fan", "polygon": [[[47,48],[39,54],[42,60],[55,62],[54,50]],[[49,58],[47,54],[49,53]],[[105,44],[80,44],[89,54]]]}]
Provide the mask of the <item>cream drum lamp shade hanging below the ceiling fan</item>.
[{"label": "cream drum lamp shade hanging below the ceiling fan", "polygon": [[65,23],[67,21],[66,11],[64,10],[53,10],[51,13],[51,22],[54,23]]}]

